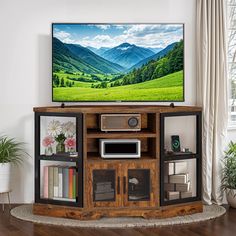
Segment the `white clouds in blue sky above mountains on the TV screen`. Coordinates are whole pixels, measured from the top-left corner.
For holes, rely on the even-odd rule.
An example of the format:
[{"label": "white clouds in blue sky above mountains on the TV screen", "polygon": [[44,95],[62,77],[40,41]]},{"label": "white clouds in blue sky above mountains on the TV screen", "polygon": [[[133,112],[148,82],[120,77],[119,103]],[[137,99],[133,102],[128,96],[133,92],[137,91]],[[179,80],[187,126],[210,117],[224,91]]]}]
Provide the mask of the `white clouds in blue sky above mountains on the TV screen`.
[{"label": "white clouds in blue sky above mountains on the TV screen", "polygon": [[[101,27],[103,25],[97,25]],[[110,25],[104,25],[110,26]],[[80,44],[82,46],[115,47],[124,42],[135,44],[140,47],[165,48],[173,42],[183,39],[183,29],[181,25],[115,25],[124,27],[123,34],[111,36],[109,34],[99,34],[95,37],[74,38],[65,31],[54,31],[54,36],[64,43]]]}]

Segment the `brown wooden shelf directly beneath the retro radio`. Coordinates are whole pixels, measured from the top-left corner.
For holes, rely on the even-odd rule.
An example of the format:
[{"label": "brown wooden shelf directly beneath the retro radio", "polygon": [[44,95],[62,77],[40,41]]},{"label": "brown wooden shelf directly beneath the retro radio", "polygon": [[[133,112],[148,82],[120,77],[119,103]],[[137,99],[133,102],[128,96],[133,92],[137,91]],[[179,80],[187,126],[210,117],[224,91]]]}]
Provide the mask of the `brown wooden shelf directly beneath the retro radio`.
[{"label": "brown wooden shelf directly beneath the retro radio", "polygon": [[[88,129],[87,130],[87,138],[123,138],[124,132],[102,132],[98,129]],[[125,132],[126,138],[155,138],[156,133],[149,130],[143,129],[141,131],[132,131],[132,132]]]}]

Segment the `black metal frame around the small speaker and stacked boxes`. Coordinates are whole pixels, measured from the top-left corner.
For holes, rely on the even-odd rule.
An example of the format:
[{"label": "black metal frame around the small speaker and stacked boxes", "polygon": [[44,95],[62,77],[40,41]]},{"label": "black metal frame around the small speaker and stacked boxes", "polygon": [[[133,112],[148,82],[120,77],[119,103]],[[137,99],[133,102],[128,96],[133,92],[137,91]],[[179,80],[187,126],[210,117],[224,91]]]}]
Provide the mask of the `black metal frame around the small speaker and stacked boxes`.
[{"label": "black metal frame around the small speaker and stacked boxes", "polygon": [[[175,116],[196,116],[196,153],[195,154],[183,154],[175,156],[166,156],[164,151],[165,145],[165,117],[175,117]],[[161,155],[160,155],[160,205],[171,205],[171,204],[179,204],[185,202],[193,202],[200,201],[202,199],[202,112],[172,112],[172,113],[161,113],[160,114],[160,147],[161,147]],[[164,192],[164,163],[165,161],[170,160],[184,160],[184,159],[195,159],[196,160],[196,184],[197,191],[195,197],[177,199],[177,200],[169,200],[165,201],[165,192]]]}]

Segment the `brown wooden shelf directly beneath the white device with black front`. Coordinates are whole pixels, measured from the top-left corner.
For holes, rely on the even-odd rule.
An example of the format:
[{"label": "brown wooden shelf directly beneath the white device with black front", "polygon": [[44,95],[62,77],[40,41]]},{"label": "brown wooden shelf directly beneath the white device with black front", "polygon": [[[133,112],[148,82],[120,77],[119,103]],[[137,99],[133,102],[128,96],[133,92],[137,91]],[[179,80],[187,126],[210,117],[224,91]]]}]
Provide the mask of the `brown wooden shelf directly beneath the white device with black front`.
[{"label": "brown wooden shelf directly beneath the white device with black front", "polygon": [[155,157],[150,153],[142,152],[140,158],[102,158],[97,152],[88,152],[87,153],[87,161],[143,161],[143,160],[155,160]]}]

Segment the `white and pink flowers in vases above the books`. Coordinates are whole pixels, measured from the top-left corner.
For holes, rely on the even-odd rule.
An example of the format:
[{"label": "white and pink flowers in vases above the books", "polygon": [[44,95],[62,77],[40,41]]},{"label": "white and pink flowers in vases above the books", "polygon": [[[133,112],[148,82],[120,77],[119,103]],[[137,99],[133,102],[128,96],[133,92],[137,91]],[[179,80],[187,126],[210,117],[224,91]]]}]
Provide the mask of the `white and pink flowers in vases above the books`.
[{"label": "white and pink flowers in vases above the books", "polygon": [[47,134],[42,143],[45,148],[50,147],[52,150],[52,146],[56,142],[56,153],[76,149],[76,126],[73,122],[62,123],[58,120],[52,120],[48,124]]}]

